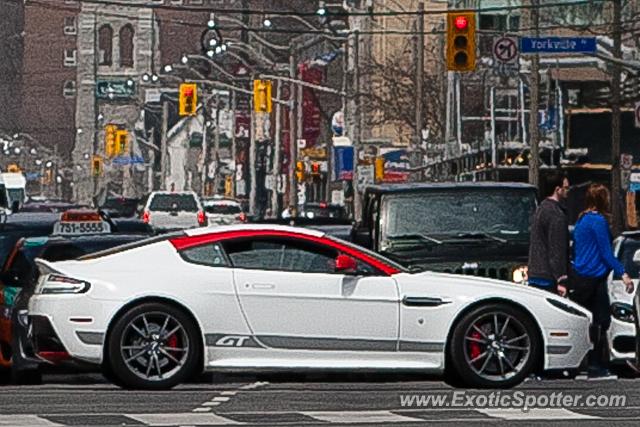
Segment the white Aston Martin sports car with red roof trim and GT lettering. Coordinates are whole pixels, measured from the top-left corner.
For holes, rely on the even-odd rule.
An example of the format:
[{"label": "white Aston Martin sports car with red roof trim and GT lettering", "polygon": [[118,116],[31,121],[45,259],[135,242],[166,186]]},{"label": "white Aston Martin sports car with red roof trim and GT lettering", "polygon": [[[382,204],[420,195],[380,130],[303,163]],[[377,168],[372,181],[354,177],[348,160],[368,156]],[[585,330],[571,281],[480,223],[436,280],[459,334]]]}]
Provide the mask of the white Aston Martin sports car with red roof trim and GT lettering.
[{"label": "white Aston Martin sports car with red roof trim and GT lettering", "polygon": [[509,387],[575,369],[591,347],[590,313],[566,299],[409,272],[308,229],[194,229],[37,262],[39,356],[100,364],[130,388],[228,368],[446,369],[470,386]]}]

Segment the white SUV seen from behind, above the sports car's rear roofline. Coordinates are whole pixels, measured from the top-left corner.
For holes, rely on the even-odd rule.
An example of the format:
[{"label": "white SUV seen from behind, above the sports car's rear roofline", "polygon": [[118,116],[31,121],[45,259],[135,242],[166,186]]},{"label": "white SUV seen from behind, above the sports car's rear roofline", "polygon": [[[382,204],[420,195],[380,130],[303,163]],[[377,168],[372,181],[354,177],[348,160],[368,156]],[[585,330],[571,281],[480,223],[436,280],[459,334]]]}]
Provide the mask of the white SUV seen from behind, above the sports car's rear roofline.
[{"label": "white SUV seen from behind, above the sports car's rear roofline", "polygon": [[142,220],[166,232],[207,225],[198,195],[193,191],[154,191],[144,206]]}]

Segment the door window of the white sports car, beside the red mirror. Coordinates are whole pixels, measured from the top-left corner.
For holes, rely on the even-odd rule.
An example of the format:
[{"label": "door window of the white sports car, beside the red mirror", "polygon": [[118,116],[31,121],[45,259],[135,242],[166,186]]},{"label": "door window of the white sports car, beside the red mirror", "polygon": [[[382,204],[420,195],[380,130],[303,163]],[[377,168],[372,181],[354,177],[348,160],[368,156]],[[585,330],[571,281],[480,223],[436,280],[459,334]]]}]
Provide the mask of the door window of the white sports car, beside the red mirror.
[{"label": "door window of the white sports car, beside the red mirror", "polygon": [[337,251],[294,239],[251,239],[225,243],[234,267],[256,270],[334,273]]}]

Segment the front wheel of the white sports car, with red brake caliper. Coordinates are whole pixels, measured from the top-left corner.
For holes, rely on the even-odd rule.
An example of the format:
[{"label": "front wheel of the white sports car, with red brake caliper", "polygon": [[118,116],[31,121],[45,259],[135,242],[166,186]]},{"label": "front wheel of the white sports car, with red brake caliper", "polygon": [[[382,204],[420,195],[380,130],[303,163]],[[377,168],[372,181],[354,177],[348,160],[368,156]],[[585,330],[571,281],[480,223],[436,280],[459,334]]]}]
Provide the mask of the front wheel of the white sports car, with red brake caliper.
[{"label": "front wheel of the white sports car, with red brake caliper", "polygon": [[530,316],[507,304],[487,304],[455,325],[449,346],[453,374],[466,386],[513,387],[538,366],[540,345]]}]

